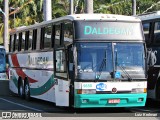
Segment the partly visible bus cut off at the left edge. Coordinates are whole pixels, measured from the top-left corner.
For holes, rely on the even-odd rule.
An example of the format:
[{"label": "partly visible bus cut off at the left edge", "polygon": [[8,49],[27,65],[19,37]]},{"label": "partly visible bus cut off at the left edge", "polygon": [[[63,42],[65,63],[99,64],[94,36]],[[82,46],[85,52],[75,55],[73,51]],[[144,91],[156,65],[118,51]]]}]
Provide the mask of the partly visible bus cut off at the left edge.
[{"label": "partly visible bus cut off at the left edge", "polygon": [[6,50],[0,45],[0,80],[7,80],[6,72]]}]

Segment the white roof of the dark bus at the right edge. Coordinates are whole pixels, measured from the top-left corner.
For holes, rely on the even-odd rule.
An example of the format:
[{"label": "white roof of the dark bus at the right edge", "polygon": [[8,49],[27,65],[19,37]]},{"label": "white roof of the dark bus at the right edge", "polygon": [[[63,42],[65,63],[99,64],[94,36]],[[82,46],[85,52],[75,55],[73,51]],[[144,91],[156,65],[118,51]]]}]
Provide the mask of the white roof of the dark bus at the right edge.
[{"label": "white roof of the dark bus at the right edge", "polygon": [[149,12],[145,14],[138,15],[141,20],[152,20],[156,18],[160,18],[160,11]]}]

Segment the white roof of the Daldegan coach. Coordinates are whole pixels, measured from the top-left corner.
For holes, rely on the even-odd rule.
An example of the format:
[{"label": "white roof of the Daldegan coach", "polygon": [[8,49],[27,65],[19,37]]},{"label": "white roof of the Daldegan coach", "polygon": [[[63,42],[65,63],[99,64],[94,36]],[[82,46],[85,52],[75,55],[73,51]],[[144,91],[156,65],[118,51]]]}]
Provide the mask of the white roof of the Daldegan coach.
[{"label": "white roof of the Daldegan coach", "polygon": [[28,29],[34,29],[36,27],[44,26],[45,24],[50,24],[54,22],[59,21],[77,21],[77,20],[83,20],[83,21],[92,21],[92,20],[98,20],[98,21],[141,21],[138,17],[133,16],[124,16],[124,15],[116,15],[116,14],[73,14],[73,15],[67,15],[64,17],[56,18],[49,21],[44,21],[41,23],[37,23],[31,26],[27,27],[18,27],[10,30],[10,33],[19,32],[21,30],[28,30]]}]

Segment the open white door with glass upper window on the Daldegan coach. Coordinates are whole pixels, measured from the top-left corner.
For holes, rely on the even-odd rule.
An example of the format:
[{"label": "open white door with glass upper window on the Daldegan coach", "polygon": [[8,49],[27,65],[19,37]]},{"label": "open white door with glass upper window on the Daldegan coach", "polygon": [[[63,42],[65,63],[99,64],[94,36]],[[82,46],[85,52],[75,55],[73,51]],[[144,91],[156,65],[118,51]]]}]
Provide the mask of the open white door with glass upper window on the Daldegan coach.
[{"label": "open white door with glass upper window on the Daldegan coach", "polygon": [[69,81],[65,49],[55,50],[55,103],[69,106]]}]

